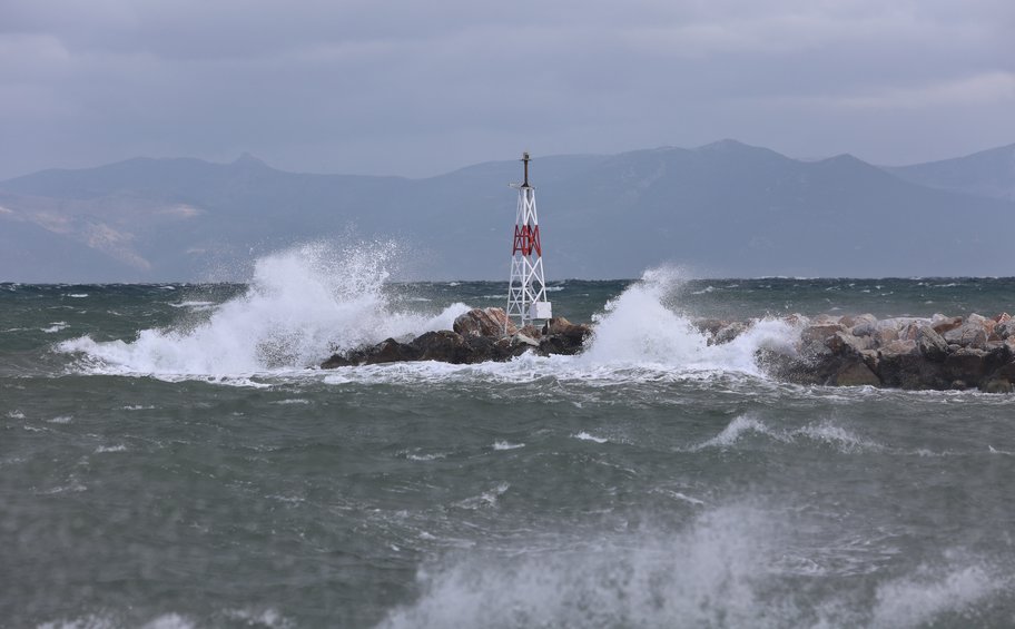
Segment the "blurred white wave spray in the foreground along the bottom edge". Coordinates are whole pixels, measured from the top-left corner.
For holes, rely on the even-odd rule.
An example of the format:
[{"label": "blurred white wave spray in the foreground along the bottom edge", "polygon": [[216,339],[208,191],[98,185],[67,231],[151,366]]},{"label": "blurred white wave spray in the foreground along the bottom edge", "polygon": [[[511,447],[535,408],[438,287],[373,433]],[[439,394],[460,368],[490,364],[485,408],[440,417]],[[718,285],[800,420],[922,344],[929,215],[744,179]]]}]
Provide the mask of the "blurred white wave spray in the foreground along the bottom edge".
[{"label": "blurred white wave spray in the foreground along the bottom edge", "polygon": [[472,551],[421,568],[418,598],[378,627],[916,627],[1007,605],[998,599],[1011,574],[960,552],[821,587],[822,577],[840,582],[822,567],[827,549],[801,546],[791,529],[770,510],[729,505],[676,531]]}]

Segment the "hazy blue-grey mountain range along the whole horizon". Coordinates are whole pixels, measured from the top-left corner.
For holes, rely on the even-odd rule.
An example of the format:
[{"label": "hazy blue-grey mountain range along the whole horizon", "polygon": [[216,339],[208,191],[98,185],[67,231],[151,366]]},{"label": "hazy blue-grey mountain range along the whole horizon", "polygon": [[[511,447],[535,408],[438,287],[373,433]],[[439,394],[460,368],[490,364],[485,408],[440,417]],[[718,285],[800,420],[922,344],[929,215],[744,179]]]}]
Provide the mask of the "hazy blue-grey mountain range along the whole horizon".
[{"label": "hazy blue-grey mountain range along the whole horizon", "polygon": [[[515,160],[426,179],[136,158],[0,181],[0,281],[242,279],[311,239],[394,238],[406,278],[506,279]],[[722,140],[535,156],[548,278],[1012,275],[1015,145],[877,167]]]}]

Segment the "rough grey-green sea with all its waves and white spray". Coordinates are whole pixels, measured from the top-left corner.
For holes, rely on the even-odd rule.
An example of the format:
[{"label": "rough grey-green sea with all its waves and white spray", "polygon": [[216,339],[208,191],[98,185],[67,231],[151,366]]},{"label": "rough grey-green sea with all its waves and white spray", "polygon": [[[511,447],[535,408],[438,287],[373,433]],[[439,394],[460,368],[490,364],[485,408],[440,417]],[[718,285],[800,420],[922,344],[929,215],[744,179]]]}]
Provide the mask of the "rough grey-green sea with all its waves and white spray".
[{"label": "rough grey-green sea with all its waves and white spray", "polygon": [[505,304],[390,263],[0,284],[0,627],[1015,626],[1015,395],[755,358],[791,313],[992,316],[1015,278],[551,279],[580,355],[318,368]]}]

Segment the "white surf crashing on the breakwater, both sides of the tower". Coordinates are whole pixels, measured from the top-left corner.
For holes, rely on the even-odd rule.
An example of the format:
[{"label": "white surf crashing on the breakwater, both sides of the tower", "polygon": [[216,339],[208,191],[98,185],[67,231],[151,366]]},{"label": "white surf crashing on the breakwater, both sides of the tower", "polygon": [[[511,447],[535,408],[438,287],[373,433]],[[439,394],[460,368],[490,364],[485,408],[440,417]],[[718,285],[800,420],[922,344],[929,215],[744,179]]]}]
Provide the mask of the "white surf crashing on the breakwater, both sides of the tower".
[{"label": "white surf crashing on the breakwater, both sides of the tower", "polygon": [[[363,244],[335,250],[324,244],[290,248],[257,261],[244,294],[221,304],[181,301],[181,323],[142,330],[132,341],[100,342],[91,336],[56,345],[79,357],[86,373],[203,377],[257,385],[243,376],[305,376],[335,351],[407,340],[423,332],[450,330],[470,306],[455,303],[427,312],[412,298],[396,302],[385,283],[396,261],[393,244]],[[383,365],[341,370],[325,382],[376,379],[526,376],[595,380],[737,372],[763,377],[759,347],[789,343],[791,327],[760,321],[732,342],[710,346],[691,320],[670,305],[682,284],[679,272],[652,269],[605,304],[594,317],[589,347],[573,357],[523,356],[510,364]],[[187,307],[195,306],[200,307]],[[423,309],[421,309],[423,308]],[[638,373],[640,372],[640,373]]]}]

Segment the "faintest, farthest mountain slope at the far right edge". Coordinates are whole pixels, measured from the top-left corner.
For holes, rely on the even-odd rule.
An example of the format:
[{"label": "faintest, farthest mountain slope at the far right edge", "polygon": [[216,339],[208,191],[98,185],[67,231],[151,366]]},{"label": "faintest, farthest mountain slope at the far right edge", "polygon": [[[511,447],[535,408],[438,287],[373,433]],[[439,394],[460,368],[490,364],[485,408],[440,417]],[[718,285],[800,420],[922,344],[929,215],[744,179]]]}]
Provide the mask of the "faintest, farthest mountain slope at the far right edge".
[{"label": "faintest, farthest mountain slope at the far right edge", "polygon": [[1015,144],[942,161],[885,167],[923,186],[1015,200]]}]

